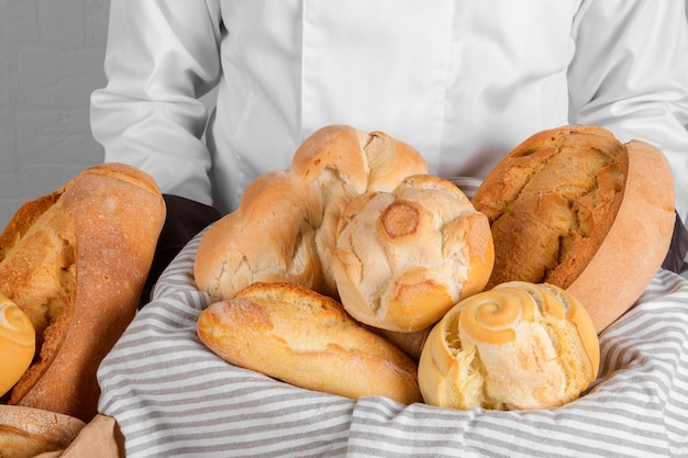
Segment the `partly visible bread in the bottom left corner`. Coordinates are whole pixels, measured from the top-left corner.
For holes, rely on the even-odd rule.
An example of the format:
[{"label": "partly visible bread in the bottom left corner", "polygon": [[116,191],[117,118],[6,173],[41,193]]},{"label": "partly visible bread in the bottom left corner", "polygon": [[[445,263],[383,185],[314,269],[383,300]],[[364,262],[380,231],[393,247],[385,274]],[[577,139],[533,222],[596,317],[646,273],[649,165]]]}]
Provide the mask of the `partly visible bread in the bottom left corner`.
[{"label": "partly visible bread in the bottom left corner", "polygon": [[30,458],[64,450],[85,426],[78,418],[55,412],[0,405],[0,456]]}]

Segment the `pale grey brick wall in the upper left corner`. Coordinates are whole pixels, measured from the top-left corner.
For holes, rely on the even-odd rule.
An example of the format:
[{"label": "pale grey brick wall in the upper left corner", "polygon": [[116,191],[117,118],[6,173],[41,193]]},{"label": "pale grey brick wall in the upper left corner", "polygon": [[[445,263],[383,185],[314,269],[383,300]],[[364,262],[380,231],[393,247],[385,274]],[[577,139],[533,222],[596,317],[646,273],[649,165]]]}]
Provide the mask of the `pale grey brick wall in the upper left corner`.
[{"label": "pale grey brick wall in the upper left corner", "polygon": [[0,231],[25,201],[102,163],[89,97],[104,85],[109,0],[0,0]]}]

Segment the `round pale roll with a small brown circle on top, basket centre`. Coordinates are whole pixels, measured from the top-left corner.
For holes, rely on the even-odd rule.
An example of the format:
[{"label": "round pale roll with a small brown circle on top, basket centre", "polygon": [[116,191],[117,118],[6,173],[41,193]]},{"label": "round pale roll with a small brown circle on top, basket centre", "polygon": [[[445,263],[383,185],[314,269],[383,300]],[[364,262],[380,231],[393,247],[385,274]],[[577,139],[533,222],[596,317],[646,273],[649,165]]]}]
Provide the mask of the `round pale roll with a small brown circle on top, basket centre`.
[{"label": "round pale roll with a small brown circle on top, basket centre", "polygon": [[417,175],[352,201],[332,269],[354,319],[410,333],[481,291],[493,256],[489,222],[468,198],[447,180]]}]

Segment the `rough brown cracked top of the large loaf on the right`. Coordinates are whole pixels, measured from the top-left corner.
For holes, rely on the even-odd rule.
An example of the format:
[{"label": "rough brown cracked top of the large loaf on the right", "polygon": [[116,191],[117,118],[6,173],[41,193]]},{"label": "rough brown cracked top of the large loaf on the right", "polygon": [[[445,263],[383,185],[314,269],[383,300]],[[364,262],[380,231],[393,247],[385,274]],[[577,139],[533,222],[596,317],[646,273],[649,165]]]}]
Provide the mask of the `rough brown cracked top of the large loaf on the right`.
[{"label": "rough brown cracked top of the large loaf on the right", "polygon": [[626,169],[625,146],[600,127],[543,131],[513,149],[473,199],[495,242],[487,288],[511,280],[567,288],[614,222]]}]

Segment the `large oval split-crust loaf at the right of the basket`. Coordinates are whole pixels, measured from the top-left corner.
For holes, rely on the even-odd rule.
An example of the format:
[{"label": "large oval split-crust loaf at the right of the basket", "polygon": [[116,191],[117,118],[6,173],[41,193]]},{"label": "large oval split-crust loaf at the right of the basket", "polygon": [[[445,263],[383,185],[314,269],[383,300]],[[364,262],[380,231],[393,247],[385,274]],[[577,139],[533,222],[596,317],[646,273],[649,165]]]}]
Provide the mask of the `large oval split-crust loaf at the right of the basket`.
[{"label": "large oval split-crust loaf at the right of the basket", "polygon": [[661,267],[674,228],[674,185],[662,152],[572,125],[536,133],[487,176],[473,203],[491,224],[487,288],[521,280],[569,290],[599,332]]}]

